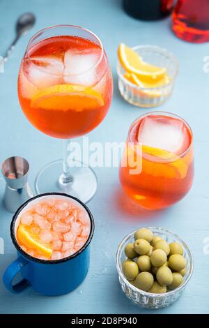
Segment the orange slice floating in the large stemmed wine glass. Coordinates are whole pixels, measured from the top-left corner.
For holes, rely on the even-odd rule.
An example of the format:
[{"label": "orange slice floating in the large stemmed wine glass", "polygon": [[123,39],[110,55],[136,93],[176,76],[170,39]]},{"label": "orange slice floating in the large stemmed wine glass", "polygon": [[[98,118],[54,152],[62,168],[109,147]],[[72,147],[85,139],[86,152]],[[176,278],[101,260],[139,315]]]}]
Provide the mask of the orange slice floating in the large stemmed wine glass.
[{"label": "orange slice floating in the large stemmed wine glass", "polygon": [[93,110],[104,105],[101,94],[90,87],[57,84],[40,91],[31,107],[43,110]]}]

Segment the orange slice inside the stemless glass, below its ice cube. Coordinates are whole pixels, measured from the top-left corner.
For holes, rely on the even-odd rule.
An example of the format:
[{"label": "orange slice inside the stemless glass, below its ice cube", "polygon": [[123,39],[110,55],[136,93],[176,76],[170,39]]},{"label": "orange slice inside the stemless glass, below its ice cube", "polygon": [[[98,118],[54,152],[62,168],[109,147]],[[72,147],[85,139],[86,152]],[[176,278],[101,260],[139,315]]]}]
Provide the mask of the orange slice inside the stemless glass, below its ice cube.
[{"label": "orange slice inside the stemless glass, below its ice cube", "polygon": [[[155,147],[142,146],[142,151],[148,155],[155,156],[155,158],[162,158],[164,163],[143,160],[142,170],[148,170],[150,174],[155,177],[167,177],[169,179],[183,179],[187,175],[188,165],[182,158],[176,154],[159,149]],[[145,167],[144,167],[145,164]]]}]

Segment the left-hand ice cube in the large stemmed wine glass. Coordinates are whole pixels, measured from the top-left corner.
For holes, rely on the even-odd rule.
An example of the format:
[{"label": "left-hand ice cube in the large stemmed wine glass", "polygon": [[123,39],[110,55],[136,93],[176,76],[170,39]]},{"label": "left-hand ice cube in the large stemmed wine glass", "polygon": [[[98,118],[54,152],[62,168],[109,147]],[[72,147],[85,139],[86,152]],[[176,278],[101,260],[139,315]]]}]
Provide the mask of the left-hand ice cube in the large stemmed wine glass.
[{"label": "left-hand ice cube in the large stemmed wine glass", "polygon": [[55,56],[31,57],[24,65],[26,78],[38,89],[62,83],[63,62]]}]

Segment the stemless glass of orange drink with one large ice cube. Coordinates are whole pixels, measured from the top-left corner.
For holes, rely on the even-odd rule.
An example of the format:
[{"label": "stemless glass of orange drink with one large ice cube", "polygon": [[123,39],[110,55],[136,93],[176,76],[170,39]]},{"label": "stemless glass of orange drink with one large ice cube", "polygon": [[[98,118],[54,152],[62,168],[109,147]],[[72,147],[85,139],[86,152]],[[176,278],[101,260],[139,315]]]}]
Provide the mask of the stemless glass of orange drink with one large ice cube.
[{"label": "stemless glass of orange drink with one large ice cube", "polygon": [[[141,161],[137,174],[130,174],[133,167],[126,161],[127,154]],[[130,127],[123,163],[127,166],[121,164],[120,180],[127,195],[146,209],[169,207],[192,186],[192,131],[173,114],[144,114]]]}]

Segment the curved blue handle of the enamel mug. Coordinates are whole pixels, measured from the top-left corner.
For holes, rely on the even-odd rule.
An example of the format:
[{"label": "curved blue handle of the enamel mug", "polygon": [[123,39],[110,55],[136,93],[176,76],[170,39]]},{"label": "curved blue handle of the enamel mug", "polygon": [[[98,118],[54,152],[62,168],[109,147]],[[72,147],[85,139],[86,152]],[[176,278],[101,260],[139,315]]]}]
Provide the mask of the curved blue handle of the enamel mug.
[{"label": "curved blue handle of the enamel mug", "polygon": [[22,279],[13,285],[15,276],[17,276],[17,274],[27,265],[29,265],[29,262],[24,260],[24,258],[19,257],[6,268],[6,271],[3,274],[3,283],[5,287],[10,292],[13,292],[13,294],[19,294],[26,290],[26,288],[30,287],[30,283],[26,281],[26,279]]}]

